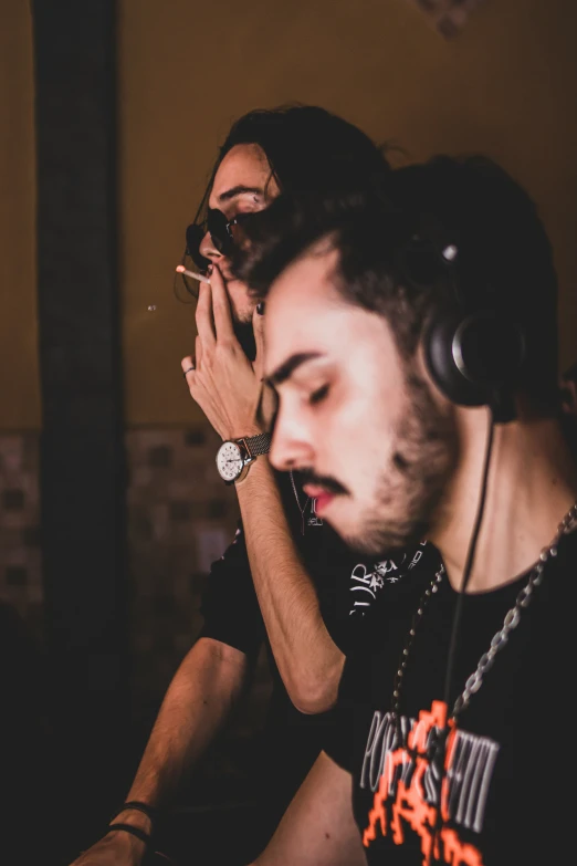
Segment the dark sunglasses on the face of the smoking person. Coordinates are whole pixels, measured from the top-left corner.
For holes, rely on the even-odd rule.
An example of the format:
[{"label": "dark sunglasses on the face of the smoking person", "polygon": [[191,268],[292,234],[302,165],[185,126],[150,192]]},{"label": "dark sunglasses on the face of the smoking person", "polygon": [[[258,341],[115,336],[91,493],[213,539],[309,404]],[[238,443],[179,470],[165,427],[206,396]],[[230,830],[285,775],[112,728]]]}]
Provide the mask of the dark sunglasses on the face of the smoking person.
[{"label": "dark sunglasses on the face of the smoking person", "polygon": [[[182,257],[182,264],[189,269],[191,260],[201,271],[206,271],[209,264],[211,264],[210,259],[200,253],[200,243],[207,232],[210,234],[214,249],[221,255],[230,255],[241,240],[242,232],[240,227],[252,216],[253,211],[249,211],[237,213],[233,219],[228,220],[221,210],[209,208],[206,220],[200,223],[193,222],[187,228],[187,246]],[[175,294],[180,301],[191,303],[198,298],[198,291],[199,284],[196,280],[187,278],[186,274],[176,274]]]}]

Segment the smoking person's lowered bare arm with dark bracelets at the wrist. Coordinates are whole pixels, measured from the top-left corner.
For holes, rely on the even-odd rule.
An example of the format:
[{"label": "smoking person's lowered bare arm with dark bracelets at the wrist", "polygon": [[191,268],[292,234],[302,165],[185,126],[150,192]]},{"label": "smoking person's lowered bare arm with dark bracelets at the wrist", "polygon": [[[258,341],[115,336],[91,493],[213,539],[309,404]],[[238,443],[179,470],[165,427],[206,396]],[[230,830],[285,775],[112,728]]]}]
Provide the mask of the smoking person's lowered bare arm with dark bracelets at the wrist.
[{"label": "smoking person's lowered bare arm with dark bracelets at the wrist", "polygon": [[[246,656],[211,638],[200,638],[177,670],[160,707],[127,800],[167,803],[182,775],[202,755],[228,719],[248,679]],[[141,812],[115,821],[150,832]],[[138,866],[145,845],[123,831],[108,833],[73,866]]]}]

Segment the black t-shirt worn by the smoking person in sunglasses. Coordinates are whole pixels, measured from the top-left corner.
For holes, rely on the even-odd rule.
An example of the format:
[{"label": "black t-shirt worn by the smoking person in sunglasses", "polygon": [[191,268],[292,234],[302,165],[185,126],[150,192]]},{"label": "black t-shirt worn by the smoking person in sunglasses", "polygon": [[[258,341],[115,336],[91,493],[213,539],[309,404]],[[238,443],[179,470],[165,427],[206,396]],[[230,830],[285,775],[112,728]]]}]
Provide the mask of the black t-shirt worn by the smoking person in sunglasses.
[{"label": "black t-shirt worn by the smoking person in sunglasses", "polygon": [[[295,476],[302,507],[306,497]],[[311,501],[303,519],[290,476],[279,476],[285,513],[293,538],[318,594],[323,619],[333,640],[347,653],[361,630],[364,614],[377,597],[423,567],[438,564],[430,544],[401,554],[395,561],[363,562],[340,541],[331,526],[314,513]],[[274,575],[272,575],[274,580]],[[256,593],[252,582],[242,525],[223,556],[213,563],[202,599],[203,637],[220,640],[254,659],[263,641],[266,645],[273,679],[265,734],[261,743],[262,787],[277,805],[280,814],[298,789],[318,755],[334,712],[310,716],[295,709],[284,688],[266,638]]]}]

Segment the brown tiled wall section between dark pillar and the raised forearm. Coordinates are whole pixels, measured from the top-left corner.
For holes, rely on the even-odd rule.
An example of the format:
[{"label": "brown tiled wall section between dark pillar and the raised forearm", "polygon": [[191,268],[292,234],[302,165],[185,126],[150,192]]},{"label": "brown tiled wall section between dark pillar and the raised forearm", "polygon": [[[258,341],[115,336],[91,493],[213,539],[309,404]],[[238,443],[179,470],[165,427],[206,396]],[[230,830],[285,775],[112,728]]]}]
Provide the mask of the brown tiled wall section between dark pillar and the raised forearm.
[{"label": "brown tiled wall section between dark pillar and the raised forearm", "polygon": [[239,509],[217,473],[212,430],[132,430],[128,544],[135,687],[153,703],[201,627],[210,563],[232,540]]}]

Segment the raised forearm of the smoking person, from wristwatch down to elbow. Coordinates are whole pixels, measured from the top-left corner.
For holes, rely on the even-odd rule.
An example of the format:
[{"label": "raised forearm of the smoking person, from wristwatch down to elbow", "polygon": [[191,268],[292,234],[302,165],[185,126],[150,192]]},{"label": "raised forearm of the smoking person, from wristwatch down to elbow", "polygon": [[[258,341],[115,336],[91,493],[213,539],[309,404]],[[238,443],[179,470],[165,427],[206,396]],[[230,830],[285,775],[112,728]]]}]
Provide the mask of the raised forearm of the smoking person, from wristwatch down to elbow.
[{"label": "raised forearm of the smoking person, from wristwatch down to elbow", "polygon": [[303,712],[329,709],[344,656],[321,615],[267,459],[258,458],[237,492],[254,587],[281,677]]}]

